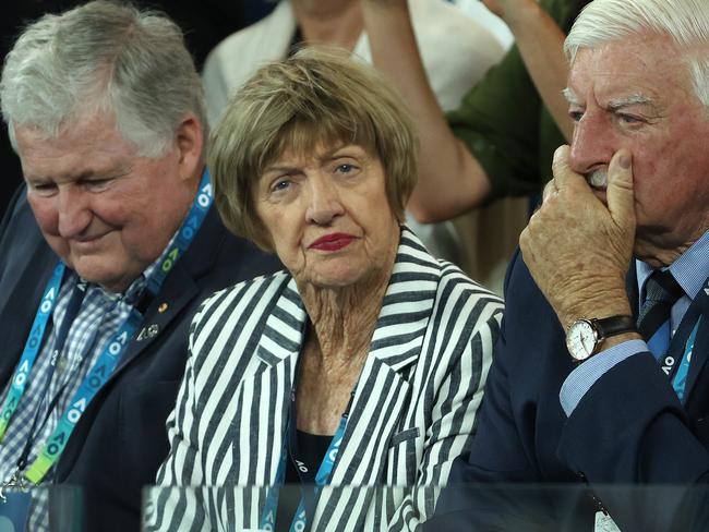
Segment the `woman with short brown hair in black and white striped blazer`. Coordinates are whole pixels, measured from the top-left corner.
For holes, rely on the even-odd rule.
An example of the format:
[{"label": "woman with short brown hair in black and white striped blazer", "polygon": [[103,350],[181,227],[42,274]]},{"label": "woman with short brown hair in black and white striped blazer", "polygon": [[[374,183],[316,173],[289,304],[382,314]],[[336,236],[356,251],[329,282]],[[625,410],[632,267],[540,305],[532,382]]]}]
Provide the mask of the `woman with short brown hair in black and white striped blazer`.
[{"label": "woman with short brown hair in black and white striped blazer", "polygon": [[401,225],[414,152],[397,96],[332,53],[267,65],[231,101],[217,206],[286,271],[195,316],[158,482],[302,483],[303,498],[161,494],[154,528],[410,530],[433,511],[423,491],[305,487],[444,484],[473,431],[502,303]]}]

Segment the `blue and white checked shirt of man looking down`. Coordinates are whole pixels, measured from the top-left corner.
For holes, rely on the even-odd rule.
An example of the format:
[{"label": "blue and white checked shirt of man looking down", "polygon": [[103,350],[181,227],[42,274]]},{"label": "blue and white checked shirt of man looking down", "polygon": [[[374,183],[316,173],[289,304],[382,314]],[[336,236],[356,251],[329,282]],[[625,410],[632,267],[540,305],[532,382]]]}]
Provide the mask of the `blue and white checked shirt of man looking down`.
[{"label": "blue and white checked shirt of man looking down", "polygon": [[[168,247],[166,247],[166,251]],[[31,436],[33,438],[32,449],[25,471],[37,458],[45,442],[57,427],[71,398],[79,390],[88,370],[94,365],[107,342],[128,318],[131,310],[143,293],[146,278],[151,276],[163,258],[161,255],[142,276],[135,279],[124,294],[107,292],[98,285],[89,283],[87,286],[79,313],[69,329],[64,349],[56,361],[57,368],[51,376],[49,386],[46,387],[58,330],[67,315],[72,291],[79,282],[76,274],[71,273],[65,276],[51,319],[47,324],[45,344],[32,368],[29,382],[10,422],[5,437],[0,444],[0,482],[8,481],[14,473],[17,460]],[[10,384],[2,391],[0,404],[4,404]],[[51,412],[48,412],[48,407],[57,395],[59,395],[59,400]],[[31,435],[29,432],[37,412],[38,420],[35,434]],[[53,468],[49,470],[43,480],[43,485],[51,482],[53,472]],[[28,530],[49,530],[47,497],[46,489],[35,492]]]}]

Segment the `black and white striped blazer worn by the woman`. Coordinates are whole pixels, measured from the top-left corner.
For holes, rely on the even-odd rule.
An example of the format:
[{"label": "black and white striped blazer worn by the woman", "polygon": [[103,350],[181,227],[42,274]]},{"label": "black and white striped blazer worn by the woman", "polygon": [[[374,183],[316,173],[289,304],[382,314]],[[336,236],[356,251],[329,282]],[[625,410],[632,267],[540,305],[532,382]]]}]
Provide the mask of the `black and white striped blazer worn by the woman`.
[{"label": "black and white striped blazer worn by the woman", "polygon": [[[472,434],[502,309],[402,228],[332,485],[445,484]],[[147,529],[259,528],[265,489],[235,486],[275,482],[307,321],[285,271],[205,301],[158,484],[229,487],[155,488]],[[413,530],[433,512],[436,493],[325,492],[312,530]]]}]

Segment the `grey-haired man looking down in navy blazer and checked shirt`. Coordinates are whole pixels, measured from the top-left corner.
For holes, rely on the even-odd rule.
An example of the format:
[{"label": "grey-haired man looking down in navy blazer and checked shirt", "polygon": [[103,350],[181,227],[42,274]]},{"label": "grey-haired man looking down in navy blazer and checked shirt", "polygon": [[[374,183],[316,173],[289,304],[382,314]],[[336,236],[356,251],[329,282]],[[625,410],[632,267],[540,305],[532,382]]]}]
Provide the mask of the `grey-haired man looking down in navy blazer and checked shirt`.
[{"label": "grey-haired man looking down in navy blazer and checked shirt", "polygon": [[211,208],[203,90],[166,17],[47,15],[0,98],[26,182],[0,226],[0,515],[43,530],[51,498],[19,488],[65,483],[86,530],[137,530],[192,314],[277,262]]}]

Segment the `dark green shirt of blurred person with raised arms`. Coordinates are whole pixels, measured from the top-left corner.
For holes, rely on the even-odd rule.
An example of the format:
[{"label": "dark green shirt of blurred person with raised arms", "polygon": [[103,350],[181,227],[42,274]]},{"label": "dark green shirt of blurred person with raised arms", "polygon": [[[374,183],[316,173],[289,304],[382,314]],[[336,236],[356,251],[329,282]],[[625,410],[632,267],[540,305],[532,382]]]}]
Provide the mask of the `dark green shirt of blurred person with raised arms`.
[{"label": "dark green shirt of blurred person with raised arms", "polygon": [[[568,33],[580,7],[588,2],[540,3]],[[447,118],[454,134],[468,146],[490,179],[492,191],[488,202],[540,193],[551,178],[554,150],[566,144],[516,46]]]}]

